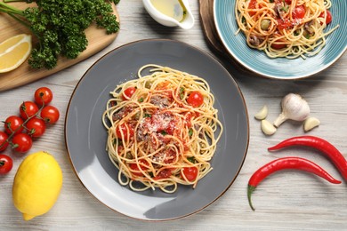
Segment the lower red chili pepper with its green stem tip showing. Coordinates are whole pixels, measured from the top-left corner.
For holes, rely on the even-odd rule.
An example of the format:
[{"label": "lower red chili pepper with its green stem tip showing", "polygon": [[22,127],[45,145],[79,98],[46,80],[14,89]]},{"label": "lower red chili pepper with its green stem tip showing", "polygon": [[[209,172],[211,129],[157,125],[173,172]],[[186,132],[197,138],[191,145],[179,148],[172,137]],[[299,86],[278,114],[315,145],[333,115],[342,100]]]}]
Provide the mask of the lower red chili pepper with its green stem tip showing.
[{"label": "lower red chili pepper with its green stem tip showing", "polygon": [[307,159],[296,157],[296,156],[278,158],[270,163],[266,163],[260,169],[255,171],[252,177],[248,181],[248,187],[247,187],[248,203],[251,206],[253,211],[254,211],[254,207],[252,205],[251,195],[254,192],[255,188],[262,181],[262,179],[265,179],[267,176],[269,176],[271,173],[274,173],[275,171],[281,171],[286,169],[309,171],[323,179],[327,179],[327,181],[333,184],[341,184],[340,180],[333,178],[329,173],[327,173],[327,171],[322,169],[319,165]]}]

